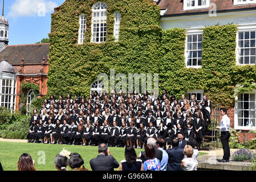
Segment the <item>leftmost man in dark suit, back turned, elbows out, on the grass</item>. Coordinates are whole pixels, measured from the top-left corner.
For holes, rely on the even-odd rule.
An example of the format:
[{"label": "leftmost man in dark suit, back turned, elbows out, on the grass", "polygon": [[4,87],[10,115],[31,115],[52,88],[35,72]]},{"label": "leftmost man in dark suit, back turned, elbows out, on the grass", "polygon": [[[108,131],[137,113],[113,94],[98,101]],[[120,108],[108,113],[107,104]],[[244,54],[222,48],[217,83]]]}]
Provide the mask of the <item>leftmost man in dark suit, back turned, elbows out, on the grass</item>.
[{"label": "leftmost man in dark suit, back turned, elbows out, on the grass", "polygon": [[114,168],[119,167],[119,162],[110,155],[107,144],[99,144],[98,152],[97,158],[90,160],[92,171],[114,171]]}]

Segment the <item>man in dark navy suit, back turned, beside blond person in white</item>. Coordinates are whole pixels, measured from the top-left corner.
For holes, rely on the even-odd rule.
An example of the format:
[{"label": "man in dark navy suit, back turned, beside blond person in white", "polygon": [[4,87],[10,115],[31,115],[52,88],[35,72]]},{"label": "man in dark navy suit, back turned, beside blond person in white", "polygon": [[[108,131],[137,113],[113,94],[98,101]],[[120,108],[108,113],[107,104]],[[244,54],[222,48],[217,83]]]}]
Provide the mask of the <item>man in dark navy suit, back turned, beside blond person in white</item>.
[{"label": "man in dark navy suit, back turned, beside blond person in white", "polygon": [[[184,158],[183,148],[178,148],[178,139],[172,140],[172,149],[166,150],[168,154],[168,164],[166,171],[182,171],[181,160]],[[166,146],[166,148],[168,148]]]}]

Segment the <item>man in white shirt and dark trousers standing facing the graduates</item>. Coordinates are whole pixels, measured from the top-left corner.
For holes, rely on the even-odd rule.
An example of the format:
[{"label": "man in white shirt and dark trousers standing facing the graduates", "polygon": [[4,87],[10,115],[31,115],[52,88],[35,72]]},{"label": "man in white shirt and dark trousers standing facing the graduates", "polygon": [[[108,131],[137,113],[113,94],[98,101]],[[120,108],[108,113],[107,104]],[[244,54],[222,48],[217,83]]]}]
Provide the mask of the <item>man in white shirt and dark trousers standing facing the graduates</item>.
[{"label": "man in white shirt and dark trousers standing facing the graduates", "polygon": [[229,117],[227,117],[227,109],[226,108],[221,108],[220,114],[222,116],[221,126],[217,126],[216,128],[220,129],[220,131],[221,131],[221,143],[222,143],[222,148],[224,150],[224,156],[223,156],[223,159],[218,160],[218,162],[229,162],[229,158],[230,158],[230,149],[229,149],[230,119],[229,119]]}]

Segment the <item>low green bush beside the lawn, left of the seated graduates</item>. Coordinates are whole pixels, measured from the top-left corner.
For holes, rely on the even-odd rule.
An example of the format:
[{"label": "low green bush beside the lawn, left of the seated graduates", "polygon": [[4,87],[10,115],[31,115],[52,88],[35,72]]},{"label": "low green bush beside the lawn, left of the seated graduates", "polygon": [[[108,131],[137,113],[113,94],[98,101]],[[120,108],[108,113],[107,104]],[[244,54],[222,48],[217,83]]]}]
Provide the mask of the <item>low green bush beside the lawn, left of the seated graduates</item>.
[{"label": "low green bush beside the lawn, left of the seated graduates", "polygon": [[19,122],[14,122],[1,132],[2,138],[8,139],[26,139],[29,132],[30,117],[25,115]]}]

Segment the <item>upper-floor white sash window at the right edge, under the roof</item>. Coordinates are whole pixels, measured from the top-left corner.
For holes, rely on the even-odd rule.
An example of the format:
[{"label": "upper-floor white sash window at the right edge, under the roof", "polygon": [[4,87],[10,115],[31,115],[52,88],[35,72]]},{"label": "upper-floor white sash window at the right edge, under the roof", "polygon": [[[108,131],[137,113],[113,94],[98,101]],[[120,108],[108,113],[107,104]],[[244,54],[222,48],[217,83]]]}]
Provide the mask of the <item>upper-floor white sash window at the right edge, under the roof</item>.
[{"label": "upper-floor white sash window at the right edge, under the roof", "polygon": [[256,46],[255,30],[239,30],[237,32],[237,64],[255,64]]}]

